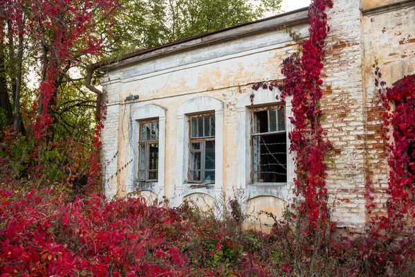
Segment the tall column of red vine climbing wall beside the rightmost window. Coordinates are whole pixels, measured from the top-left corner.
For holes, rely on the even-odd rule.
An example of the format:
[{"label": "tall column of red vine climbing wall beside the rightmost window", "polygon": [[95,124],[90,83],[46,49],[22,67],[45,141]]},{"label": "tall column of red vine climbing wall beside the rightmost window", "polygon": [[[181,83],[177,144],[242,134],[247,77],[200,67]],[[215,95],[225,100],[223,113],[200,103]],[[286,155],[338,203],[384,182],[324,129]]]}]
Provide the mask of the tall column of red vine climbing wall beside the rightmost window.
[{"label": "tall column of red vine climbing wall beside the rightmost window", "polygon": [[330,142],[324,141],[325,132],[321,125],[320,73],[324,66],[324,40],[329,31],[324,11],[332,6],[330,0],[312,1],[308,8],[310,38],[302,44],[301,57],[297,54],[284,60],[282,73],[285,78],[279,87],[282,100],[286,96],[293,96],[293,117],[290,120],[294,128],[289,134],[290,150],[296,152],[295,194],[304,199],[295,208],[300,218],[306,220],[308,233],[324,229],[329,223],[324,157],[330,148]]}]

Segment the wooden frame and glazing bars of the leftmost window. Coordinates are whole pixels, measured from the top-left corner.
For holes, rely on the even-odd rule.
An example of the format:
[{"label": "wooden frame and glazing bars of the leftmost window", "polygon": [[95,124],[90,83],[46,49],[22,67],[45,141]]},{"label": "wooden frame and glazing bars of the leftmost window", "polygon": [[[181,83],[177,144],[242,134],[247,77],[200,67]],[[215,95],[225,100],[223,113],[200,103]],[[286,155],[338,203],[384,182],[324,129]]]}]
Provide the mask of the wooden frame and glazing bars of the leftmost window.
[{"label": "wooden frame and glazing bars of the leftmost window", "polygon": [[[158,126],[158,138],[157,138],[157,140],[149,140],[149,141],[147,141],[147,140],[145,140],[145,141],[142,141],[141,140],[141,135],[142,135],[142,128],[141,128],[141,126],[142,126],[142,124],[147,124],[147,123],[158,123],[157,124],[157,126]],[[138,121],[138,130],[139,130],[139,132],[138,132],[138,172],[137,172],[137,181],[140,181],[140,182],[157,182],[158,181],[158,169],[159,169],[159,167],[158,167],[158,163],[159,163],[159,159],[160,159],[160,155],[159,155],[159,152],[160,152],[160,123],[159,123],[159,120],[158,120],[158,118],[153,118],[153,119],[147,119],[147,120],[139,120]],[[150,157],[150,145],[151,144],[157,144],[157,147],[158,147],[158,150],[157,150],[157,161],[156,161],[156,163],[157,163],[157,169],[156,170],[149,170],[148,169],[148,166],[149,166],[149,157]],[[142,147],[141,145],[144,145],[144,147],[145,147],[145,169],[144,169],[144,176],[145,176],[145,178],[144,179],[142,179],[142,178],[140,178],[140,171],[142,170],[141,168],[140,168],[140,148]],[[157,179],[150,179],[150,175],[149,175],[149,173],[150,172],[157,172]]]}]

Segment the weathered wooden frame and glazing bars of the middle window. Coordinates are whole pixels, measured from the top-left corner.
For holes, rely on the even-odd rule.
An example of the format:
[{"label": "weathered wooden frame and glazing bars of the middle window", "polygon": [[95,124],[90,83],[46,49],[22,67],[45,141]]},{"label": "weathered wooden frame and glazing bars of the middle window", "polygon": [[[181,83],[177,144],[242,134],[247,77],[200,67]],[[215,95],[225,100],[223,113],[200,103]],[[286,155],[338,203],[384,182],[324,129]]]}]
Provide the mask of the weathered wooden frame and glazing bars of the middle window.
[{"label": "weathered wooden frame and glazing bars of the middle window", "polygon": [[[216,150],[216,144],[215,144],[215,138],[216,138],[216,130],[215,130],[215,134],[212,136],[212,122],[211,120],[209,120],[210,122],[210,128],[209,128],[209,133],[210,136],[205,136],[205,134],[203,134],[203,136],[196,136],[196,137],[192,137],[192,119],[197,119],[197,118],[214,118],[215,123],[216,123],[216,118],[214,116],[214,113],[208,113],[208,114],[196,114],[196,115],[192,115],[188,117],[188,123],[189,123],[189,165],[188,165],[188,170],[187,170],[187,182],[189,183],[194,183],[194,184],[214,184],[215,180],[213,179],[210,182],[205,182],[205,163],[206,163],[206,141],[213,141],[214,142],[214,150]],[[198,124],[198,131],[199,131],[199,122]],[[203,120],[203,132],[205,130],[205,120]],[[196,132],[199,133],[199,132]],[[192,143],[200,143],[200,148],[198,150],[192,150]],[[201,169],[200,170],[192,170],[191,168],[191,164],[192,164],[192,153],[201,153]],[[215,157],[216,160],[216,157]],[[192,174],[192,172],[195,171],[200,171],[200,181],[199,180],[194,180],[192,179],[190,176]],[[214,168],[214,170],[208,170],[208,171],[214,171],[216,173],[216,167]]]}]

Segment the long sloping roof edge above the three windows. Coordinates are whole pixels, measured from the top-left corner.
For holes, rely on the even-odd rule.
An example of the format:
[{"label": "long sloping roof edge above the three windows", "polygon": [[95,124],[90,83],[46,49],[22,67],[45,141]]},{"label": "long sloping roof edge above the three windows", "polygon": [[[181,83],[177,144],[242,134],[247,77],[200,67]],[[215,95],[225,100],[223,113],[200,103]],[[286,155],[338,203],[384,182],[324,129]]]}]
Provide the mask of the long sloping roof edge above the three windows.
[{"label": "long sloping roof edge above the three windows", "polygon": [[222,30],[216,30],[211,33],[203,35],[195,35],[169,44],[163,44],[152,48],[147,48],[132,53],[123,55],[122,57],[113,57],[108,60],[103,60],[90,66],[94,69],[104,69],[107,71],[115,70],[120,66],[127,66],[142,60],[148,60],[151,57],[158,55],[167,55],[177,51],[183,51],[188,48],[203,46],[205,44],[212,44],[214,42],[221,42],[230,39],[236,39],[252,33],[264,32],[264,30],[279,28],[281,26],[293,26],[301,24],[308,19],[308,7],[284,12],[273,17],[266,17],[257,21],[250,21],[237,26],[232,26]]}]

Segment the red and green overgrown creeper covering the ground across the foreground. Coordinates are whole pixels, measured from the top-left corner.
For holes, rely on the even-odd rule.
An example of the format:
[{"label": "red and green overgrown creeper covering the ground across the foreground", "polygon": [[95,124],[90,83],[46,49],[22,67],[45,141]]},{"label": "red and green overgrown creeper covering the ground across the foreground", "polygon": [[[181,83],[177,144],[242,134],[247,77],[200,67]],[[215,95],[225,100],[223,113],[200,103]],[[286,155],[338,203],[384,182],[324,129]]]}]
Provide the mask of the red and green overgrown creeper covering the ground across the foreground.
[{"label": "red and green overgrown creeper covering the ground across the foreground", "polygon": [[2,276],[411,276],[415,265],[412,239],[331,240],[315,257],[286,222],[268,234],[188,203],[65,199],[53,189],[0,190]]}]

